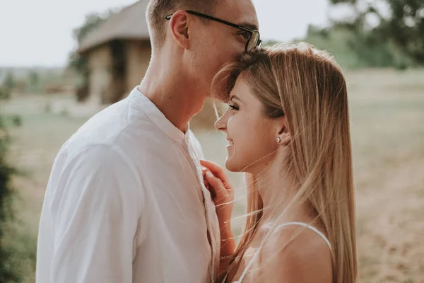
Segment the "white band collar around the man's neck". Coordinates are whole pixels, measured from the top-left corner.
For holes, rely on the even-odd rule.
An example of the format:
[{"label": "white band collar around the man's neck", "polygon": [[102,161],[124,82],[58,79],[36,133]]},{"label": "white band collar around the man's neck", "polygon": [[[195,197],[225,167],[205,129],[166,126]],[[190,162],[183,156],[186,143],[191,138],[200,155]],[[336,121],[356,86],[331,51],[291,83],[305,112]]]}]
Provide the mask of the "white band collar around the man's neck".
[{"label": "white band collar around the man's neck", "polygon": [[163,115],[163,112],[160,112],[159,108],[157,108],[150,99],[144,96],[137,87],[138,86],[129,93],[127,99],[129,99],[131,103],[134,103],[136,108],[141,109],[152,120],[152,122],[155,123],[155,125],[171,139],[174,139],[179,144],[182,144],[185,139],[188,139],[189,129],[187,129],[186,134],[181,132],[181,130],[175,127],[170,120],[167,120],[167,117]]}]

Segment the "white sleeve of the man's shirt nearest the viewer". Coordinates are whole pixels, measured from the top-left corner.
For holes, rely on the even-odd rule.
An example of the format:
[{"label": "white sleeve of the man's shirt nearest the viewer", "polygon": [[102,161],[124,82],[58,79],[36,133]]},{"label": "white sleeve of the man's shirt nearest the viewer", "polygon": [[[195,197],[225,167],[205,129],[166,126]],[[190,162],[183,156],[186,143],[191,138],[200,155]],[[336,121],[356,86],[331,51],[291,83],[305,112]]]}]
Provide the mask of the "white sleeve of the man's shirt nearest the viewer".
[{"label": "white sleeve of the man's shirt nearest the viewer", "polygon": [[52,194],[50,282],[132,282],[141,187],[109,146],[90,146],[61,170]]}]

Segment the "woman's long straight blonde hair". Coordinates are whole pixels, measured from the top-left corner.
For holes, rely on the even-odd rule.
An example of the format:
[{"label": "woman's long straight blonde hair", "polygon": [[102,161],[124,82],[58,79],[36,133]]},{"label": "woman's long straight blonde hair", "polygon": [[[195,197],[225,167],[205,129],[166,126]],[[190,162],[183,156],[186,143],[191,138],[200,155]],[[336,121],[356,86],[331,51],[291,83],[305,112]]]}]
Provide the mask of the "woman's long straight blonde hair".
[{"label": "woman's long straight blonde hair", "polygon": [[[270,118],[285,115],[291,140],[285,168],[297,203],[307,203],[331,243],[334,283],[357,277],[355,192],[346,81],[326,52],[306,43],[273,45],[244,54],[214,80],[228,93],[240,74]],[[222,83],[224,82],[225,83]],[[228,270],[238,266],[261,221],[263,202],[247,174],[247,220]]]}]

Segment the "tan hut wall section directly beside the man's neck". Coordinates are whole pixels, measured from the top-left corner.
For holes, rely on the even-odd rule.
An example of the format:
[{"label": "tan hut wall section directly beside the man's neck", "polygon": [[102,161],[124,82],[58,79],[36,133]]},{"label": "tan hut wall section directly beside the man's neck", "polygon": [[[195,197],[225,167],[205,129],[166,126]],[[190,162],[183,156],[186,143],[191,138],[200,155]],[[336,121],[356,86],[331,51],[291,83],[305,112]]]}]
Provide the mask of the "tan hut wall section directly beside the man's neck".
[{"label": "tan hut wall section directly beside the man's neck", "polygon": [[151,59],[151,44],[146,40],[130,40],[126,45],[126,92],[129,93],[143,79]]}]

